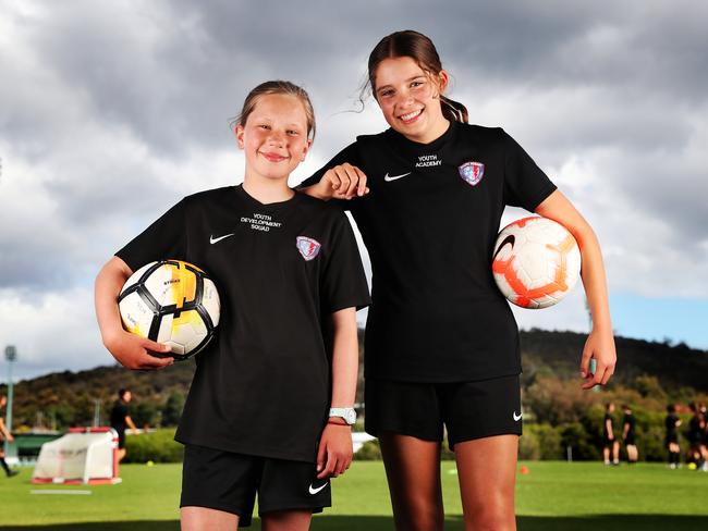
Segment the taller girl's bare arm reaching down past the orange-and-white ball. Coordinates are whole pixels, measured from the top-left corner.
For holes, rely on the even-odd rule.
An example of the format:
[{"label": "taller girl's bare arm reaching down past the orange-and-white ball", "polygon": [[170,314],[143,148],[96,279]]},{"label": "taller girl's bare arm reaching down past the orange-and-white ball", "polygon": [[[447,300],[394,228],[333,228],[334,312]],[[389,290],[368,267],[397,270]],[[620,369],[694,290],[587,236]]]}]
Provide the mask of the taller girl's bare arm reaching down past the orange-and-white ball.
[{"label": "taller girl's bare arm reaching down past the orange-and-white ball", "polygon": [[[559,190],[548,196],[536,213],[562,224],[573,234],[581,248],[581,276],[593,316],[593,330],[585,342],[581,360],[581,376],[586,380],[584,390],[605,385],[614,372],[617,353],[600,244],[587,221]],[[597,363],[595,374],[589,371],[590,359]]]}]

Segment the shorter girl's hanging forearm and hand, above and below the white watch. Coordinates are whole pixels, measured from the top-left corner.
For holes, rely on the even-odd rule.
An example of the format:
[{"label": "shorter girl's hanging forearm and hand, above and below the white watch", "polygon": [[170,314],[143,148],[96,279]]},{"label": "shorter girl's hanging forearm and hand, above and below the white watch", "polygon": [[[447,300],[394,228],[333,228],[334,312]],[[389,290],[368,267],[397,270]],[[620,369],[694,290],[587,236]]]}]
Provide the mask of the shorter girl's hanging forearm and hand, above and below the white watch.
[{"label": "shorter girl's hanging forearm and hand, above and below the white watch", "polygon": [[[331,407],[353,407],[358,372],[356,308],[332,313],[334,342],[332,348]],[[317,478],[337,477],[352,464],[352,428],[331,420],[325,427],[317,452]]]}]

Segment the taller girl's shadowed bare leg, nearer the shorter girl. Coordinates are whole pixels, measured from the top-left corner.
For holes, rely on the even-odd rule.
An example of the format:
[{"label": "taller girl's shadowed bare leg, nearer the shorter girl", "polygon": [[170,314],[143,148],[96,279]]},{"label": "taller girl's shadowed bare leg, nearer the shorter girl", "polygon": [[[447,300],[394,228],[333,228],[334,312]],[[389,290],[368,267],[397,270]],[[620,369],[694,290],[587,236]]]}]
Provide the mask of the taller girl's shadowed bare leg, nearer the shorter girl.
[{"label": "taller girl's shadowed bare leg, nearer the shorter girl", "polygon": [[398,433],[379,437],[395,529],[442,530],[440,443]]}]

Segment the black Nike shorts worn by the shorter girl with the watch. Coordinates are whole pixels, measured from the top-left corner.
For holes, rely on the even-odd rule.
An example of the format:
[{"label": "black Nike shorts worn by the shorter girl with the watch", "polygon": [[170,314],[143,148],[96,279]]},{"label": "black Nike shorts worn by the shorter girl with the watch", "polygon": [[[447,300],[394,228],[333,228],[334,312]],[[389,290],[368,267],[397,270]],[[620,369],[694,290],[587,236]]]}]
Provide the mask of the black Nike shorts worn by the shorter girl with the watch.
[{"label": "black Nike shorts worn by the shorter girl with the watch", "polygon": [[318,480],[314,462],[233,454],[187,444],[182,467],[180,507],[207,507],[239,515],[251,524],[258,493],[258,514],[330,507],[329,479]]}]

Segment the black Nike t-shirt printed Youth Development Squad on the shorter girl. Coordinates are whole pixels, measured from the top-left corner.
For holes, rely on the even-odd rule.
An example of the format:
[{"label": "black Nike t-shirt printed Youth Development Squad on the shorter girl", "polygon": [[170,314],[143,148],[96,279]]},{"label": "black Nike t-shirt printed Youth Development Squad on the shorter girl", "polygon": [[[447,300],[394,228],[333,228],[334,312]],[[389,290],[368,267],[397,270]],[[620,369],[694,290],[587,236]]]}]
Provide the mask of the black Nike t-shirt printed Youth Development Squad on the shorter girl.
[{"label": "black Nike t-shirt printed Youth Development Squad on the shorter girl", "polygon": [[117,252],[134,271],[183,259],[221,298],[175,439],[314,461],[330,404],[331,313],[369,304],[344,213],[303,194],[263,205],[242,186],[188,196]]}]

